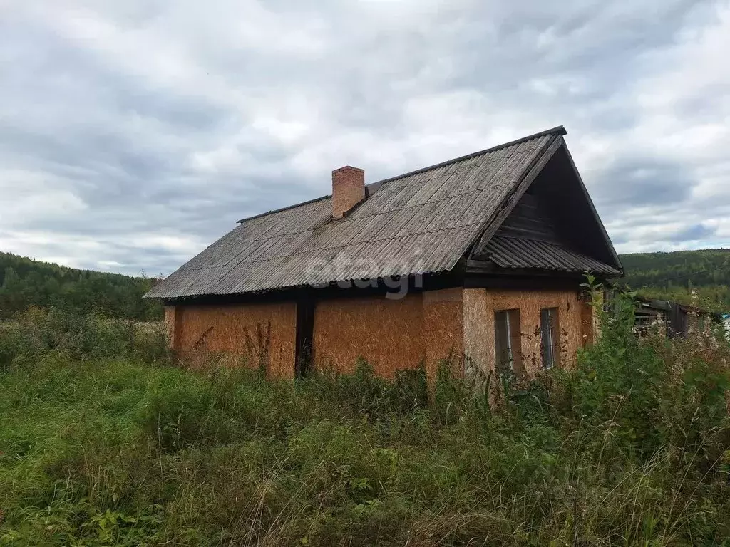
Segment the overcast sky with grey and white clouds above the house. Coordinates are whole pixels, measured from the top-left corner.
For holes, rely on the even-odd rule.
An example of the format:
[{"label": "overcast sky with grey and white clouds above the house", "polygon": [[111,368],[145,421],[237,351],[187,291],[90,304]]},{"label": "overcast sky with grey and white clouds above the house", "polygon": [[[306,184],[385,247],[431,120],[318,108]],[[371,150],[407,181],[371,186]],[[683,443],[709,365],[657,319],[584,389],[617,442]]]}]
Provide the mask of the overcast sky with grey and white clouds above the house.
[{"label": "overcast sky with grey and white clouds above the house", "polygon": [[169,274],[554,125],[619,252],[730,247],[730,1],[0,0],[0,250]]}]

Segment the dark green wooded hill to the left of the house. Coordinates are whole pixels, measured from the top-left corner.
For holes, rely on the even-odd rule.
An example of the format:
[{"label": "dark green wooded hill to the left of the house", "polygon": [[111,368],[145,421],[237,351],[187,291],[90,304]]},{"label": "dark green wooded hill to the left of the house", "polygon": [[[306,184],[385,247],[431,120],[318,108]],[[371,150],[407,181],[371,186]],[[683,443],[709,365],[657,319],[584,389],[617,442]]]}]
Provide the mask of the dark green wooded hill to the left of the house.
[{"label": "dark green wooded hill to the left of the house", "polygon": [[161,305],[142,300],[152,284],[144,277],[77,270],[0,252],[0,318],[28,306],[56,306],[82,314],[160,319]]}]

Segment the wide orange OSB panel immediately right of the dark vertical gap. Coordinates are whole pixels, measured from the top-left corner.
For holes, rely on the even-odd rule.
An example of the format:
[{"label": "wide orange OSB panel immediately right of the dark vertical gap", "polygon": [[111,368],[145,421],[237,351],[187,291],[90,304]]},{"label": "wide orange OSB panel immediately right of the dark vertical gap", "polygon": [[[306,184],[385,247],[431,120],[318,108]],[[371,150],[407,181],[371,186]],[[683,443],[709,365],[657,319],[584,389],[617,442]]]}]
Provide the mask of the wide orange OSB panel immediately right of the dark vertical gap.
[{"label": "wide orange OSB panel immediately right of the dark vertical gap", "polygon": [[312,362],[348,373],[364,357],[377,375],[392,378],[423,360],[422,325],[420,295],[322,300],[315,306]]}]

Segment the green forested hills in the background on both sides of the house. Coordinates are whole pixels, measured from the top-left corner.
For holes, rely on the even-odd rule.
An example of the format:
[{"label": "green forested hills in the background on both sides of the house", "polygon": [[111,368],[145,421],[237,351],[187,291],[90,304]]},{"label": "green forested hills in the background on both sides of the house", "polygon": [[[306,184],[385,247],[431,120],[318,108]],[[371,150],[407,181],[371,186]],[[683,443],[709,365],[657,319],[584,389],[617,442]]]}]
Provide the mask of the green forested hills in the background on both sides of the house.
[{"label": "green forested hills in the background on both sides of the house", "polygon": [[[639,294],[712,310],[730,309],[730,249],[621,255],[626,285]],[[151,321],[162,306],[142,295],[156,279],[78,270],[0,252],[0,319],[31,306]]]}]

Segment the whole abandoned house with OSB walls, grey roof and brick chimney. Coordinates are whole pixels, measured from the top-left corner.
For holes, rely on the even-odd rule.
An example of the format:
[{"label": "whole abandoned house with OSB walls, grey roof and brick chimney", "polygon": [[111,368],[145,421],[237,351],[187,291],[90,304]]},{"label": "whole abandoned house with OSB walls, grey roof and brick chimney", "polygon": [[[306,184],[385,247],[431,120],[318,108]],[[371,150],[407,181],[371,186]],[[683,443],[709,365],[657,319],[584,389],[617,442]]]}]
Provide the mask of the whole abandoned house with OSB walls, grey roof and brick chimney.
[{"label": "whole abandoned house with OSB walls, grey roof and brick chimney", "polygon": [[[377,374],[450,358],[484,372],[570,365],[591,341],[585,271],[621,262],[562,127],[239,221],[147,298],[169,344],[245,357],[269,377]],[[464,369],[462,369],[464,370]]]}]

